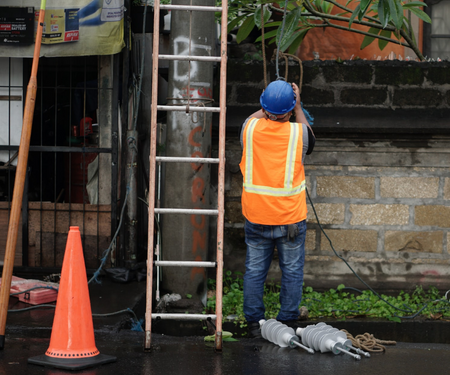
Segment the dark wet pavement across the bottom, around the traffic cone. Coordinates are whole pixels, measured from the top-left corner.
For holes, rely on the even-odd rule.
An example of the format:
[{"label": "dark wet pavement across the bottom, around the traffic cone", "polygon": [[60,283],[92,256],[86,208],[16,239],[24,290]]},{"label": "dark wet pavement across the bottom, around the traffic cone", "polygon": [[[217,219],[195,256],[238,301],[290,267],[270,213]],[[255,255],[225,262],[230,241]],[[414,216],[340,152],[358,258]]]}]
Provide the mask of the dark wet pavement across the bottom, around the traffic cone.
[{"label": "dark wet pavement across the bottom, around the traffic cone", "polygon": [[[397,343],[384,354],[356,361],[332,353],[309,354],[303,350],[280,348],[263,339],[224,342],[222,353],[202,337],[174,337],[153,334],[151,353],[143,352],[144,334],[133,331],[96,331],[96,345],[102,354],[117,361],[77,371],[78,374],[448,374],[448,344]],[[27,364],[41,355],[48,338],[21,337],[20,331],[7,334],[0,352],[0,374],[63,374],[67,371]]]}]

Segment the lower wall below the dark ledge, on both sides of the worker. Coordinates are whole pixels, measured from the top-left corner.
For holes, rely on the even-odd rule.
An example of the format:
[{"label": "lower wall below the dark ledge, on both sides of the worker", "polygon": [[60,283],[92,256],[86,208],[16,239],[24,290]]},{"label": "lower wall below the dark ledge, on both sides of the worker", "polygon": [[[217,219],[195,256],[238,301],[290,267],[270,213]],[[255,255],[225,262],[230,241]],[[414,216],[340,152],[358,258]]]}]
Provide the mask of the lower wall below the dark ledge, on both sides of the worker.
[{"label": "lower wall below the dark ledge, on both sides of the worker", "polygon": [[[337,253],[370,285],[382,289],[450,284],[450,170],[445,166],[415,166],[412,151],[385,163],[392,145],[380,145],[380,157],[371,163],[345,161],[346,147],[334,152],[340,161],[326,162],[329,144],[318,140],[306,160],[307,189],[329,240]],[[450,162],[450,142],[433,151]],[[364,151],[362,151],[364,152]],[[417,157],[427,164],[427,152]],[[324,156],[325,155],[325,156]],[[324,161],[325,159],[325,161]],[[354,158],[358,160],[358,158]],[[241,213],[242,175],[238,164],[240,145],[230,142],[227,151],[225,203],[225,265],[243,271],[245,244]],[[336,283],[363,287],[333,252],[308,202],[305,282],[315,287]],[[279,277],[277,262],[271,278]],[[356,284],[356,285],[355,285]]]}]

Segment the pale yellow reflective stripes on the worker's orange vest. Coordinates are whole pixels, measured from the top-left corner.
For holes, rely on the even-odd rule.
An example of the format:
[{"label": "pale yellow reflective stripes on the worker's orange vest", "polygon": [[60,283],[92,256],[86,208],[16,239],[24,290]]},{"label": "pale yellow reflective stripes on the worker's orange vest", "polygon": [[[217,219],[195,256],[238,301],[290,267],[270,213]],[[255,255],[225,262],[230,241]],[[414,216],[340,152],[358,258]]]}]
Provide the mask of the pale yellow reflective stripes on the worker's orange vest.
[{"label": "pale yellow reflective stripes on the worker's orange vest", "polygon": [[286,168],[284,173],[284,186],[274,188],[270,186],[253,184],[253,132],[258,119],[253,119],[246,126],[246,153],[245,153],[245,177],[244,189],[249,193],[271,195],[276,197],[290,197],[298,195],[305,190],[305,180],[300,185],[292,186],[294,181],[295,158],[297,154],[298,139],[300,134],[299,124],[290,123],[289,144],[286,153]]}]

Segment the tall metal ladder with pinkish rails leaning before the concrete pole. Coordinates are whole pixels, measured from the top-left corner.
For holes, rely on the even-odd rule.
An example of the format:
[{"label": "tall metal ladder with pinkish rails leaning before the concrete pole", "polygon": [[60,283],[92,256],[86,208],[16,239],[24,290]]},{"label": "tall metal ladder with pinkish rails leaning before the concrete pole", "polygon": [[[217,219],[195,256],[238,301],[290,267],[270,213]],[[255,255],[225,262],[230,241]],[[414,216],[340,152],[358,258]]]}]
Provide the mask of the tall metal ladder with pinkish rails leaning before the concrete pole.
[{"label": "tall metal ladder with pinkish rails leaning before the concrete pole", "polygon": [[[186,56],[186,55],[160,55],[159,54],[159,11],[185,10],[201,12],[221,12],[221,48],[220,56]],[[223,226],[224,226],[224,191],[225,191],[225,119],[226,119],[226,71],[227,71],[227,19],[228,2],[222,2],[221,7],[193,6],[193,5],[160,5],[160,0],[154,2],[154,30],[153,30],[153,64],[152,64],[152,105],[151,105],[151,133],[150,133],[150,176],[149,176],[149,220],[148,220],[148,256],[147,256],[147,305],[145,313],[145,343],[144,350],[151,349],[151,324],[153,318],[161,319],[186,319],[191,320],[216,320],[215,350],[222,350],[222,281],[223,281]],[[157,105],[158,94],[158,61],[159,60],[184,60],[184,61],[208,61],[220,62],[220,95],[219,107],[193,107],[190,111],[196,112],[218,112],[219,113],[219,157],[218,158],[192,158],[192,157],[157,157],[156,156],[156,133],[157,133],[157,111],[186,111],[187,106],[163,106]],[[156,162],[184,162],[184,163],[215,163],[219,165],[218,170],[218,207],[217,210],[206,209],[170,209],[155,208],[155,182]],[[154,220],[156,214],[202,214],[217,215],[217,256],[216,262],[205,261],[154,261]],[[152,314],[152,287],[153,287],[153,265],[156,266],[183,266],[188,267],[216,267],[216,311],[215,314]]]}]

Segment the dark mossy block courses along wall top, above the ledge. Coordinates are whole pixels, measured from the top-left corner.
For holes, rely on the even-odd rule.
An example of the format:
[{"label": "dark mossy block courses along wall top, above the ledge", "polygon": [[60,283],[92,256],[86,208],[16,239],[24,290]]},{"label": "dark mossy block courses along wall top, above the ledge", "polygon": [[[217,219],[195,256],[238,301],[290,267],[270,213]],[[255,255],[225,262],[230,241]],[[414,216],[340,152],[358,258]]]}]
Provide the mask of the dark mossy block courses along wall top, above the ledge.
[{"label": "dark mossy block courses along wall top, above the ledge", "polygon": [[[450,108],[450,62],[416,61],[305,61],[302,63],[302,98],[306,106],[386,109]],[[228,66],[228,105],[258,103],[264,88],[259,61],[231,60]],[[280,63],[279,74],[286,68]],[[288,82],[300,82],[300,66],[290,62]],[[274,64],[268,81],[276,79]]]}]

